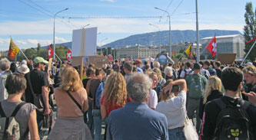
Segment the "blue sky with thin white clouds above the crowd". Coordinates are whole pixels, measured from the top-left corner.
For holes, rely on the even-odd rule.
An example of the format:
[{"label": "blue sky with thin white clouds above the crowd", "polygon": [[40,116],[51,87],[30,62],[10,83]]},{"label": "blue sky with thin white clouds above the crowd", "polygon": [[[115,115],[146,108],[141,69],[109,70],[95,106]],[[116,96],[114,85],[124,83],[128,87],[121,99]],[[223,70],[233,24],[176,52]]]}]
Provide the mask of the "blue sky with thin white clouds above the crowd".
[{"label": "blue sky with thin white clouds above the crowd", "polygon": [[[0,0],[0,50],[8,50],[10,37],[19,48],[72,40],[72,31],[87,24],[98,28],[97,44],[103,45],[133,34],[168,30],[196,30],[195,0]],[[235,30],[243,33],[249,0],[198,0],[199,30]],[[151,26],[154,24],[158,28]],[[108,38],[108,39],[106,39]]]}]

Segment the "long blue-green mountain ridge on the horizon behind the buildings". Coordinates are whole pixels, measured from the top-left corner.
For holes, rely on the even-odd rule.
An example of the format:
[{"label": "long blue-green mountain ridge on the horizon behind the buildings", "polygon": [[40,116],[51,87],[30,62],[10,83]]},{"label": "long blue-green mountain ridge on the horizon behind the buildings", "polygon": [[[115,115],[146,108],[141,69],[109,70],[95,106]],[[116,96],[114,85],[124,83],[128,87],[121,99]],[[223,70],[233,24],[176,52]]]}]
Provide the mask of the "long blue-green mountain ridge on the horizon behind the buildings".
[{"label": "long blue-green mountain ridge on the horizon behind the buildings", "polygon": [[[160,38],[159,38],[160,34]],[[199,31],[199,41],[201,38],[204,37],[213,37],[214,34],[216,36],[221,35],[231,35],[231,34],[241,34],[240,31],[226,31],[226,30],[201,30]],[[179,31],[174,30],[171,31],[171,44],[177,44],[180,42],[196,42],[197,40],[197,34],[196,31],[193,30],[185,30],[185,31]],[[103,47],[123,47],[128,45],[135,45],[135,44],[141,44],[143,46],[158,46],[159,42],[161,42],[161,45],[169,44],[169,31],[156,31],[156,32],[150,32],[145,34],[135,34],[131,35],[129,37],[125,37],[123,39],[119,39],[117,41],[113,41],[109,44],[105,44]],[[62,44],[56,44],[58,45],[64,45],[68,48],[71,48],[71,42],[66,42]],[[42,47],[42,49],[47,49],[48,47]]]}]

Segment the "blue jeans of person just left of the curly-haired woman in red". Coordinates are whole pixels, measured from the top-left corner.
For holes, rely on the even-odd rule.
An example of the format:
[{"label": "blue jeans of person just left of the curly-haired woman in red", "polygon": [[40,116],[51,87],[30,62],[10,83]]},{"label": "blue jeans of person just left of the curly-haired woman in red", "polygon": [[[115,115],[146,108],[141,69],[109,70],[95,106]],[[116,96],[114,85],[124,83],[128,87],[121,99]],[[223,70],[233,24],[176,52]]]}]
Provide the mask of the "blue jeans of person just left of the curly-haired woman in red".
[{"label": "blue jeans of person just left of the curly-haired woman in red", "polygon": [[95,124],[95,140],[101,139],[101,109],[92,109],[93,122]]}]

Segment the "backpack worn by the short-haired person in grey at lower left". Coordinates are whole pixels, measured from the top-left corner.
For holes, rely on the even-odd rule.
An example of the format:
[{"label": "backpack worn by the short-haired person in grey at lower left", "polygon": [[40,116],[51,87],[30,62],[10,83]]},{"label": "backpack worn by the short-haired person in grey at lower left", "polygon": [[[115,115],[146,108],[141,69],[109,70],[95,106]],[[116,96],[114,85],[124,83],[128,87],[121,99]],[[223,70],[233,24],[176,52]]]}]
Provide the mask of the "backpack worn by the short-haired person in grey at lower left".
[{"label": "backpack worn by the short-haired person in grey at lower left", "polygon": [[2,103],[0,103],[0,139],[5,140],[18,140],[18,139],[25,139],[26,135],[28,134],[28,129],[25,131],[24,135],[20,135],[20,127],[18,122],[15,119],[15,116],[18,110],[25,105],[25,103],[19,103],[18,106],[14,109],[11,116],[5,116],[5,112],[2,109]]}]

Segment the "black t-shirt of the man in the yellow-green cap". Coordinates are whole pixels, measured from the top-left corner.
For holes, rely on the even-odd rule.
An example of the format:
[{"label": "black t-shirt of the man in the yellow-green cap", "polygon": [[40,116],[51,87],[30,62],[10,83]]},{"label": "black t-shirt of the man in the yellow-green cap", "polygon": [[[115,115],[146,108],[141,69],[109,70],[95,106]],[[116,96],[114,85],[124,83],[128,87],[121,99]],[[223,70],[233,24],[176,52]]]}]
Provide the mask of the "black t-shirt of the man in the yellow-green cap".
[{"label": "black t-shirt of the man in the yellow-green cap", "polygon": [[30,86],[28,83],[28,74],[30,74],[30,80],[32,83],[32,89],[35,94],[42,94],[42,86],[49,85],[47,73],[40,70],[32,70],[31,72],[25,74],[25,79],[27,80],[27,88],[25,90],[25,98],[27,103],[34,103],[33,95],[30,90]]}]

